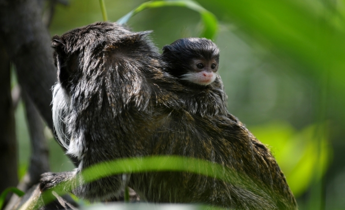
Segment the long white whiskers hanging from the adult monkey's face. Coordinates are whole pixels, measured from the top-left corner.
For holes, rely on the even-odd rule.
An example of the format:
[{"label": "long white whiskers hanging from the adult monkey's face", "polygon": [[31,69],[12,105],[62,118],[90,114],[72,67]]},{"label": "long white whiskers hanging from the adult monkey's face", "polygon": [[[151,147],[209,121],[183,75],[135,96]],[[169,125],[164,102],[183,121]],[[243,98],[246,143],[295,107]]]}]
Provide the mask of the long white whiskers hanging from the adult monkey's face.
[{"label": "long white whiskers hanging from the adult monkey's face", "polygon": [[70,135],[65,130],[68,122],[69,104],[70,98],[65,93],[65,90],[61,87],[60,83],[57,83],[52,87],[53,90],[53,124],[58,140],[62,146],[68,149]]}]

